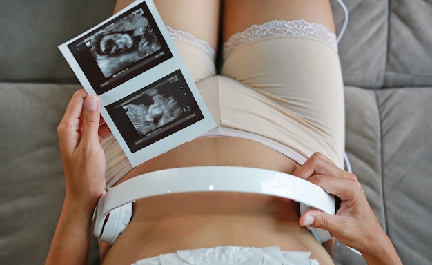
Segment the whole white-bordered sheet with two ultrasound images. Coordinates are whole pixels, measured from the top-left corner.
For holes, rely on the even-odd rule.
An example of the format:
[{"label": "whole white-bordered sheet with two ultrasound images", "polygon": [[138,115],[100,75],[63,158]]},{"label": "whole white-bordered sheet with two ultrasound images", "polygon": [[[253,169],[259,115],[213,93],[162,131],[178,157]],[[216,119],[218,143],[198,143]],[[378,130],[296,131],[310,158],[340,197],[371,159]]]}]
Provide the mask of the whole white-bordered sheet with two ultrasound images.
[{"label": "whole white-bordered sheet with two ultrasound images", "polygon": [[150,0],[127,8],[59,50],[132,166],[215,128],[210,112]]}]

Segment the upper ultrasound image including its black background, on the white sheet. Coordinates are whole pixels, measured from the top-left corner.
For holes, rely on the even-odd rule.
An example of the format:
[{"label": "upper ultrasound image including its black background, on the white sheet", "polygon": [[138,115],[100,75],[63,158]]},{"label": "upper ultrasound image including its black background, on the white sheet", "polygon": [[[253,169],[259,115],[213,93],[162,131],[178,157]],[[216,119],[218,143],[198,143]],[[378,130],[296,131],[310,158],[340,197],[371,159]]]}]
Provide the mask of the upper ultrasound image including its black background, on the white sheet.
[{"label": "upper ultrasound image including its black background, on the white sheet", "polygon": [[173,57],[146,2],[86,32],[67,47],[97,95]]}]

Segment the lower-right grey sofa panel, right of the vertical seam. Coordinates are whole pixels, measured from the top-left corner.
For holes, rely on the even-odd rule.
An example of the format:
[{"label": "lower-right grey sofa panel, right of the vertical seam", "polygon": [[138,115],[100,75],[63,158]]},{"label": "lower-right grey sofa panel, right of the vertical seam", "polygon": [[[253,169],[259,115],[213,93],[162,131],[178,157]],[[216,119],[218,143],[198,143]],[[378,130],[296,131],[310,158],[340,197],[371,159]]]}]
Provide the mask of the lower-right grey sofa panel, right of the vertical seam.
[{"label": "lower-right grey sofa panel, right of the vertical seam", "polygon": [[386,230],[405,264],[432,260],[432,88],[382,90]]}]

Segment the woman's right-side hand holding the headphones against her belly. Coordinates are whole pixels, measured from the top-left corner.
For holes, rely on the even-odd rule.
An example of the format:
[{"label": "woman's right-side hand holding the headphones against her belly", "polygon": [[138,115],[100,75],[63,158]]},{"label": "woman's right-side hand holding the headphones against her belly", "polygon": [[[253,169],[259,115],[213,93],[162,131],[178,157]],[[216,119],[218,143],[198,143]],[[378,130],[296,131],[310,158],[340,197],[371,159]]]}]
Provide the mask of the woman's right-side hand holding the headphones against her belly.
[{"label": "woman's right-side hand holding the headphones against her belly", "polygon": [[355,175],[337,168],[320,153],[312,155],[293,175],[311,181],[341,200],[335,215],[309,210],[300,217],[301,226],[328,230],[346,246],[360,251],[369,264],[402,264]]}]

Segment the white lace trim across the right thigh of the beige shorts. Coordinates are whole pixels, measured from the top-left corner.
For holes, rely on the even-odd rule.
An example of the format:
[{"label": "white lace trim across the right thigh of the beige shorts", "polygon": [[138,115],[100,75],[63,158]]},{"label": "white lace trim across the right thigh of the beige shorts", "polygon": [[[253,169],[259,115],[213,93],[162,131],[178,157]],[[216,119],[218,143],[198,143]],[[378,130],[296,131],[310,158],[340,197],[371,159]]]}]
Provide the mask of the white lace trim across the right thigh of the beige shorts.
[{"label": "white lace trim across the right thigh of the beige shorts", "polygon": [[309,23],[304,20],[279,21],[273,20],[262,25],[253,25],[243,32],[239,32],[224,43],[224,58],[228,53],[245,43],[257,41],[268,36],[295,35],[312,37],[327,43],[337,52],[336,35],[329,32],[324,26],[317,23]]}]

